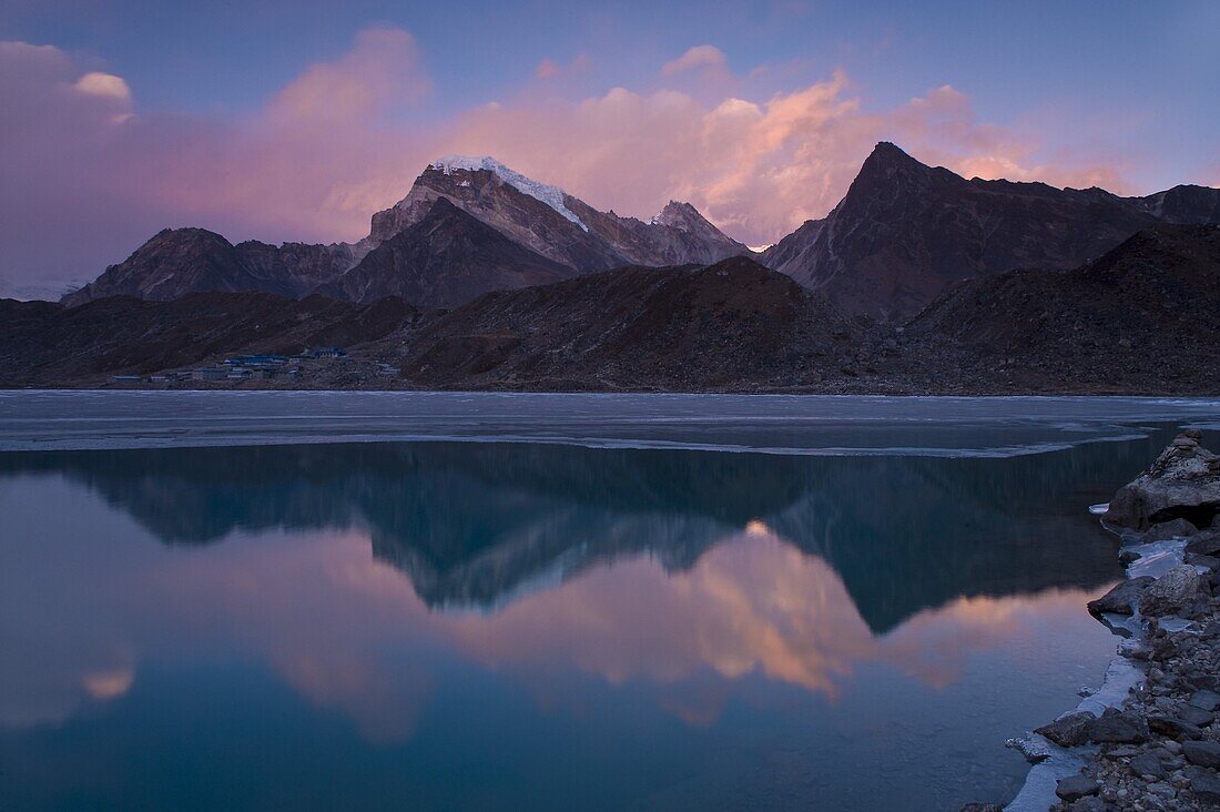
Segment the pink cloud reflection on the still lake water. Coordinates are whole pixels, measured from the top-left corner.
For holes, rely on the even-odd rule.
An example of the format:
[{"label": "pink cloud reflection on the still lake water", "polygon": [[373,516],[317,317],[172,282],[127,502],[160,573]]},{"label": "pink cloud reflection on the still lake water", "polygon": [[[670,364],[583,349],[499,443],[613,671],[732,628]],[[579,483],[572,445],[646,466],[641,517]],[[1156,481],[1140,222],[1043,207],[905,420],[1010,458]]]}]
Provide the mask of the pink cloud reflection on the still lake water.
[{"label": "pink cloud reflection on the still lake water", "polygon": [[[2,613],[0,724],[60,723],[122,701],[143,663],[222,652],[264,663],[373,741],[409,739],[438,669],[454,662],[501,672],[539,702],[560,702],[548,685],[572,669],[612,686],[643,683],[661,709],[708,725],[732,685],[752,676],[834,701],[860,665],[877,663],[944,687],[976,652],[1038,635],[1093,593],[963,597],[875,636],[822,558],[752,521],[683,571],[639,556],[492,614],[445,614],[376,560],[360,532],[274,531],[165,549],[126,520],[115,527],[116,517],[98,523],[112,540],[56,535],[7,547],[6,563],[43,595],[43,613],[35,635],[21,634],[12,607]],[[63,557],[73,565],[60,565]]]}]

